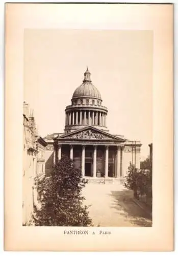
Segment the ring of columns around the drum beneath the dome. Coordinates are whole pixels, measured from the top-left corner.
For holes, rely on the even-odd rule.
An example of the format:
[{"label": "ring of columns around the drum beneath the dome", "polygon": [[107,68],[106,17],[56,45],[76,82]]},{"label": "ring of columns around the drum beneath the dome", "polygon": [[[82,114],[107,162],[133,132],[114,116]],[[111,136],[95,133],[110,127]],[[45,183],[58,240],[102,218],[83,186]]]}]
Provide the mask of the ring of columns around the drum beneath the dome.
[{"label": "ring of columns around the drum beneath the dome", "polygon": [[66,113],[66,125],[99,125],[107,127],[106,125],[107,114],[101,111],[80,110],[70,111]]}]

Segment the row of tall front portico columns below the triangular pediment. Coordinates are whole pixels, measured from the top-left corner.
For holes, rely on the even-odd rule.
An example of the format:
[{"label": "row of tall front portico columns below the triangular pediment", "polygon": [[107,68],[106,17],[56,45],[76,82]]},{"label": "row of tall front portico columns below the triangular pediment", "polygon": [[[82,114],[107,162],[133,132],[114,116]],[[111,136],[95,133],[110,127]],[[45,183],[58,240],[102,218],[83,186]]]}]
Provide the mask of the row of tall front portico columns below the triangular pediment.
[{"label": "row of tall front portico columns below the triangular pediment", "polygon": [[[82,176],[85,177],[85,147],[82,145]],[[57,154],[56,154],[57,153]],[[116,160],[116,178],[121,174],[121,159],[122,159],[122,147],[117,146],[117,160]],[[57,152],[54,148],[54,165],[56,164],[56,157],[61,159],[61,145],[58,145]],[[70,145],[70,159],[73,160],[73,145]],[[93,146],[93,177],[96,178],[96,161],[97,161],[97,145]],[[109,146],[105,146],[105,178],[108,177],[108,163],[109,163]]]}]

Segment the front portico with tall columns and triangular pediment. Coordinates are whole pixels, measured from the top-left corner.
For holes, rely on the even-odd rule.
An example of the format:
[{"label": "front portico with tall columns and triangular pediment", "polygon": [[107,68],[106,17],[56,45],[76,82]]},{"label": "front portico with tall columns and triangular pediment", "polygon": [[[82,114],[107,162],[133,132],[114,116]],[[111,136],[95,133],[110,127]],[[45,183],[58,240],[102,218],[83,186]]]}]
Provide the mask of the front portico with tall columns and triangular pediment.
[{"label": "front portico with tall columns and triangular pediment", "polygon": [[[56,138],[54,144],[54,165],[61,159],[62,155],[66,155],[73,160],[76,167],[81,168],[83,177],[90,176],[96,178],[105,176],[106,178],[119,178],[122,176],[121,151],[124,148],[124,140],[111,135],[107,137],[106,133],[101,131],[99,131],[99,134],[100,137],[103,135],[103,141],[97,140],[95,138],[97,134],[96,129],[92,127],[82,129],[81,132],[83,132],[83,139],[85,141],[74,139],[79,137],[79,131]],[[91,138],[94,137],[95,139],[87,139],[88,134],[90,134]]]}]

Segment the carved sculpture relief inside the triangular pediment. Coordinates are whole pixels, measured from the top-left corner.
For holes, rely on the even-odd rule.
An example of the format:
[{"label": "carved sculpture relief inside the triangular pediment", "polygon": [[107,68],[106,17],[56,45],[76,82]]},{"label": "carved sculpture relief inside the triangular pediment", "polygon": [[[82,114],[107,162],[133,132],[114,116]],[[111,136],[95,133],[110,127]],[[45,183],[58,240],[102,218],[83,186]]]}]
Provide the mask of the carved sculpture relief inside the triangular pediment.
[{"label": "carved sculpture relief inside the triangular pediment", "polygon": [[104,134],[93,132],[91,130],[82,131],[78,134],[73,134],[71,136],[67,136],[67,139],[112,139]]}]

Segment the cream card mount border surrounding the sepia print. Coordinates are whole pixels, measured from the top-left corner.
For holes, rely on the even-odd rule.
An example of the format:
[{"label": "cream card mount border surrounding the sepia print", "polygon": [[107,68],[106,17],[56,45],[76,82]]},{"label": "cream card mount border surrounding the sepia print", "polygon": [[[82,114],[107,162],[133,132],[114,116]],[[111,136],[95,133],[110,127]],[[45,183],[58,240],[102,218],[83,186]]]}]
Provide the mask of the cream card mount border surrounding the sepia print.
[{"label": "cream card mount border surrounding the sepia print", "polygon": [[[119,5],[119,8],[109,5],[108,9],[104,7],[106,5],[99,5],[98,17],[98,6],[89,4],[88,8],[91,8],[90,12],[93,14],[91,17],[86,15],[81,5],[71,4],[72,8],[71,5],[70,7],[63,5],[62,8],[56,9],[54,4],[49,4],[48,7],[46,4],[40,4],[40,7],[38,4],[30,5],[27,8],[24,4],[16,4],[15,7],[6,4],[5,249],[173,250],[173,6],[132,5],[131,10],[131,5],[126,8],[122,5]],[[76,11],[73,11],[73,8]],[[160,12],[161,17],[158,16]],[[29,13],[33,13],[33,17]],[[136,15],[138,13],[140,16]],[[78,15],[75,16],[76,14]],[[102,24],[100,20],[103,21],[106,17],[109,22]],[[72,22],[74,18],[78,18],[75,23]],[[123,20],[126,22],[123,23]],[[70,29],[78,26],[83,29],[107,26],[109,29],[109,25],[113,27],[113,24],[116,26],[115,29],[132,27],[132,29],[154,30],[153,226],[150,228],[119,227],[119,230],[117,230],[118,227],[114,227],[111,228],[110,237],[88,236],[87,242],[85,237],[65,237],[64,229],[60,227],[22,227],[20,225],[22,154],[20,155],[19,152],[22,152],[23,28],[35,26],[61,28],[65,25],[65,28]],[[13,91],[14,88],[16,88],[15,91]],[[40,239],[35,241],[36,237]],[[70,243],[70,248],[65,247],[65,243]]]}]

